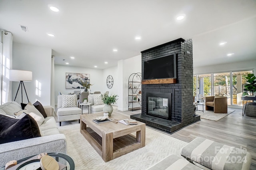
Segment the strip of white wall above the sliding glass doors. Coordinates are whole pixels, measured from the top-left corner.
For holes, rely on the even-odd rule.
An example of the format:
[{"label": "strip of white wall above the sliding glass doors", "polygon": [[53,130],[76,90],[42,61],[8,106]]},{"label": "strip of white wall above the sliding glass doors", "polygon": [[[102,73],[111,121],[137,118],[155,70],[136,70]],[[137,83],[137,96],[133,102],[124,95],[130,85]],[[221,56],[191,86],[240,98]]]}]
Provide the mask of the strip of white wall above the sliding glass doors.
[{"label": "strip of white wall above the sliding glass doors", "polygon": [[202,73],[210,73],[210,72],[225,72],[225,71],[232,71],[232,70],[247,70],[247,69],[253,69],[255,74],[256,60],[197,67],[197,68],[194,68],[194,74],[202,74]]}]

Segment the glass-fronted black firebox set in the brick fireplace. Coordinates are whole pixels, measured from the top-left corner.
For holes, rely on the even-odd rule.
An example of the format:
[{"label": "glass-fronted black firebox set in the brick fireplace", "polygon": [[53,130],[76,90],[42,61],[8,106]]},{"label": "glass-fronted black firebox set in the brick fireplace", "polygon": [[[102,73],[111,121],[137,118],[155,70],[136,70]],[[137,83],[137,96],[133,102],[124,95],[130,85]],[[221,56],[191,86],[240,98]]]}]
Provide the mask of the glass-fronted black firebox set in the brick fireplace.
[{"label": "glass-fronted black firebox set in the brick fireplace", "polygon": [[147,92],[147,114],[159,118],[171,120],[172,93]]}]

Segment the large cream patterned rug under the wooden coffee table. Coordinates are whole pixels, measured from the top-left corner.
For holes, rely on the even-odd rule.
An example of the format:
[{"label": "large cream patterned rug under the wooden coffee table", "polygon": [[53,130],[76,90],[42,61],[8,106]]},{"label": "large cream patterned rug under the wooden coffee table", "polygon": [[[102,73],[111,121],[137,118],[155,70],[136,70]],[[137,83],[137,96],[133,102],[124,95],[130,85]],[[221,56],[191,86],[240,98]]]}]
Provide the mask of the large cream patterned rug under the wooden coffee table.
[{"label": "large cream patterned rug under the wooden coffee table", "polygon": [[104,162],[80,133],[80,124],[72,122],[59,127],[66,135],[68,155],[75,162],[76,170],[146,170],[160,160],[175,154],[187,143],[146,127],[146,146]]}]

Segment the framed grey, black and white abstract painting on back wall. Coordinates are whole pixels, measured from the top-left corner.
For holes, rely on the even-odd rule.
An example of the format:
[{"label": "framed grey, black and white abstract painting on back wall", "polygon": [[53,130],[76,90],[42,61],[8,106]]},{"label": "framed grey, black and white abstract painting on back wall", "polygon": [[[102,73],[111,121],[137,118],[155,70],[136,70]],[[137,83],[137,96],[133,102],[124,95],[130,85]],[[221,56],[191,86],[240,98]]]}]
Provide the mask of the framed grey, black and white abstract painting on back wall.
[{"label": "framed grey, black and white abstract painting on back wall", "polygon": [[66,89],[84,88],[85,84],[90,84],[90,74],[66,72]]}]

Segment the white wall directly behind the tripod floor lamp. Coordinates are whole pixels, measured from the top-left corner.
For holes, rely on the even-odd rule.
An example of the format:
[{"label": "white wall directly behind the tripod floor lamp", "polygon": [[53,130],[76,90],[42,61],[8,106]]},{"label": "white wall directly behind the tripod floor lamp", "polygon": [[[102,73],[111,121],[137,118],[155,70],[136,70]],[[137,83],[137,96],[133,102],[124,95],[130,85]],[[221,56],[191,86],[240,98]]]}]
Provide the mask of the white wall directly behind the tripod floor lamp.
[{"label": "white wall directly behind the tripod floor lamp", "polygon": [[[38,100],[42,105],[50,105],[52,49],[14,42],[12,52],[12,69],[32,71],[32,82],[24,82],[30,102],[33,104]],[[39,88],[36,82],[40,84]],[[19,82],[12,82],[12,100],[15,98],[18,85]],[[20,90],[16,98],[18,103],[21,102]],[[38,95],[36,90],[40,92]],[[23,92],[23,103],[27,102],[26,94]]]}]

